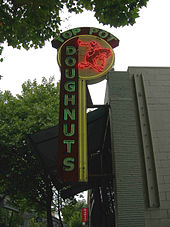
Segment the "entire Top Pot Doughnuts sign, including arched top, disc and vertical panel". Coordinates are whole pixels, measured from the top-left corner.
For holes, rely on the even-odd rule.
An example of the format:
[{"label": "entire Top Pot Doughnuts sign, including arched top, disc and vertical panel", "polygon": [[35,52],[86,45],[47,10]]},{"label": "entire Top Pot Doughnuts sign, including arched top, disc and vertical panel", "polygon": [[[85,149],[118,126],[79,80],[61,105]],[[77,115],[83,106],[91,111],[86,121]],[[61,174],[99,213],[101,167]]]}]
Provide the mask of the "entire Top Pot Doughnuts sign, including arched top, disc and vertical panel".
[{"label": "entire Top Pot Doughnuts sign, including arched top, disc and vertical panel", "polygon": [[119,40],[97,28],[75,28],[52,41],[61,68],[58,177],[88,181],[86,83],[104,79],[114,63]]}]

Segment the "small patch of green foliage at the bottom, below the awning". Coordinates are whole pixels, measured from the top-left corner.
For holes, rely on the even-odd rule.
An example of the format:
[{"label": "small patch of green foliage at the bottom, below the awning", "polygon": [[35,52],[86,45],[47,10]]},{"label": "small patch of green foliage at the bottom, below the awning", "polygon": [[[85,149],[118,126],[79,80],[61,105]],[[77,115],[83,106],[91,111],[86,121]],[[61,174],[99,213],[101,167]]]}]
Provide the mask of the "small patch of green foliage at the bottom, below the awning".
[{"label": "small patch of green foliage at the bottom, below the awning", "polygon": [[82,226],[82,208],[86,208],[85,200],[71,200],[65,204],[61,209],[63,220],[68,227],[81,227]]}]

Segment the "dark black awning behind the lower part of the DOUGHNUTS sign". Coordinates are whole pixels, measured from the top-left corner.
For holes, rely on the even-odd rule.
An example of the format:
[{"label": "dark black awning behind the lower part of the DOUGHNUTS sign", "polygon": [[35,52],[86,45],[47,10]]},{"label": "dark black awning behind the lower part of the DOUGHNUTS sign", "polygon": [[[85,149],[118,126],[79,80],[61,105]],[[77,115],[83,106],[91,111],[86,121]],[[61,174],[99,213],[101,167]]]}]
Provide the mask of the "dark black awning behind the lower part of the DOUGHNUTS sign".
[{"label": "dark black awning behind the lower part of the DOUGHNUTS sign", "polygon": [[[108,149],[110,147],[110,131],[108,124],[108,106],[102,106],[87,113],[87,143],[88,143],[88,183],[69,185],[65,192],[77,194],[98,184],[103,176],[111,173],[111,161]],[[59,182],[57,177],[57,144],[58,126],[41,130],[29,135],[29,140],[34,152],[38,155],[42,167],[51,176],[57,189],[62,189],[66,184]],[[106,163],[107,162],[107,163]],[[104,164],[106,163],[106,165]],[[70,193],[69,193],[70,192]]]}]

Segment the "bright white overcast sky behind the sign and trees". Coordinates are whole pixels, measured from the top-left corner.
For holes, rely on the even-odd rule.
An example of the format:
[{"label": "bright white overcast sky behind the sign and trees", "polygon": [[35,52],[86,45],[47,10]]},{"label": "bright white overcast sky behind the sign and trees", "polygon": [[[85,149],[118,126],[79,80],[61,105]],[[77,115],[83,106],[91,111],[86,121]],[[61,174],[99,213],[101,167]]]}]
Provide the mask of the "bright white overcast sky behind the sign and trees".
[{"label": "bright white overcast sky behind the sign and trees", "polygon": [[[170,67],[170,0],[149,0],[140,11],[140,17],[133,26],[110,28],[95,19],[92,12],[79,15],[63,13],[66,18],[62,31],[75,27],[97,27],[116,36],[119,46],[115,52],[115,71],[127,71],[128,66]],[[17,50],[5,45],[3,63],[0,63],[0,90],[10,90],[13,95],[21,93],[21,85],[28,79],[40,83],[42,77],[54,76],[60,80],[57,65],[57,50],[51,42],[42,49]],[[103,104],[106,82],[90,85],[94,104]]]}]

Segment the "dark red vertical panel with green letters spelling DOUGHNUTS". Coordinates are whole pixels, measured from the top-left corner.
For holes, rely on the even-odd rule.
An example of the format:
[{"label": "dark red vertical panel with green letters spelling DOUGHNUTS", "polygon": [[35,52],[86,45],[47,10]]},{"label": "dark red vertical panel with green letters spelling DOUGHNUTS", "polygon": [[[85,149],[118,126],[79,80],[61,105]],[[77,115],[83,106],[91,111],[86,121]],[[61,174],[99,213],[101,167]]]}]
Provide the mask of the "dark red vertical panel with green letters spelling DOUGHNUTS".
[{"label": "dark red vertical panel with green letters spelling DOUGHNUTS", "polygon": [[76,38],[61,49],[61,84],[58,166],[59,177],[64,182],[78,181],[78,71]]}]

